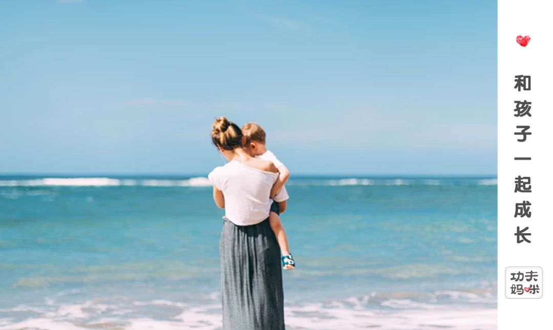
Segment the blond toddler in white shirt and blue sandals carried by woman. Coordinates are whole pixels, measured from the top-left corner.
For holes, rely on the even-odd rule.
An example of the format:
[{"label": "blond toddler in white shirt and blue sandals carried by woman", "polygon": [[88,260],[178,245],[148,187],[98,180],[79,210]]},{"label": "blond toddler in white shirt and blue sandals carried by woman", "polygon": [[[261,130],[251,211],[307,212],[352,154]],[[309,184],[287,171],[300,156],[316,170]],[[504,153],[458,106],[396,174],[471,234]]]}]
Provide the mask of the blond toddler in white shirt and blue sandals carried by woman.
[{"label": "blond toddler in white shirt and blue sandals carried by woman", "polygon": [[[290,177],[290,172],[288,168],[284,166],[275,155],[268,151],[265,148],[265,131],[257,123],[249,122],[244,127],[242,127],[242,134],[246,137],[246,151],[250,156],[259,157],[267,161],[272,161],[273,164],[278,168],[280,174],[278,179],[276,179],[273,188],[271,189],[271,198],[274,198],[276,195],[287,194],[284,183],[288,181]],[[284,213],[286,209],[286,201],[284,202],[275,202],[271,204],[271,210],[269,213],[269,224],[273,229],[276,240],[280,246],[280,253],[282,255],[282,265],[285,270],[290,270],[295,267],[294,258],[292,257],[290,250],[288,249],[288,239],[286,239],[286,233],[284,232],[284,227],[280,222],[280,213]]]}]

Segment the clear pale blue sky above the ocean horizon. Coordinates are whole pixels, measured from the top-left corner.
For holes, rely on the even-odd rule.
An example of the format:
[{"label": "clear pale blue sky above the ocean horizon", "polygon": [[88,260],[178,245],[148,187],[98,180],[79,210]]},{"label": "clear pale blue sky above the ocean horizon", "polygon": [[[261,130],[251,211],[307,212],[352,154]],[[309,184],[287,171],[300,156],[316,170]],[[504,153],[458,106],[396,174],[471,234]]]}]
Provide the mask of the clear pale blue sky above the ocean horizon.
[{"label": "clear pale blue sky above the ocean horizon", "polygon": [[495,1],[2,1],[0,173],[497,173]]}]

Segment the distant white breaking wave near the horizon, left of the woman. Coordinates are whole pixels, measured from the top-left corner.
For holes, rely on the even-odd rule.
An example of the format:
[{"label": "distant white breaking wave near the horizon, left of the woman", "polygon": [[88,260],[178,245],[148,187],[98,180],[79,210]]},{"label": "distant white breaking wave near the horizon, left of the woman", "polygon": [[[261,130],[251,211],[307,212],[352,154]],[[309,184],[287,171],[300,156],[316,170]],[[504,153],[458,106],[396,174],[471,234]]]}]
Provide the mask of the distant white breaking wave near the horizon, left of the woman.
[{"label": "distant white breaking wave near the horizon, left of the woman", "polygon": [[2,180],[0,187],[211,187],[206,177],[184,180],[165,179],[115,179],[115,178],[41,178],[30,180]]}]

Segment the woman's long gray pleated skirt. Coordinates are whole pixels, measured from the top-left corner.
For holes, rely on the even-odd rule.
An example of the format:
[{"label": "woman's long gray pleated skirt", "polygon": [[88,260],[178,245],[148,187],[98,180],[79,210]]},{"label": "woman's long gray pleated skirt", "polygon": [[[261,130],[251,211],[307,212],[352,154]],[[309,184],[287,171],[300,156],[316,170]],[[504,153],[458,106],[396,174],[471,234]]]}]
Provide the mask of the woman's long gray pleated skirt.
[{"label": "woman's long gray pleated skirt", "polygon": [[284,329],[280,249],[269,225],[223,221],[221,240],[223,329]]}]

